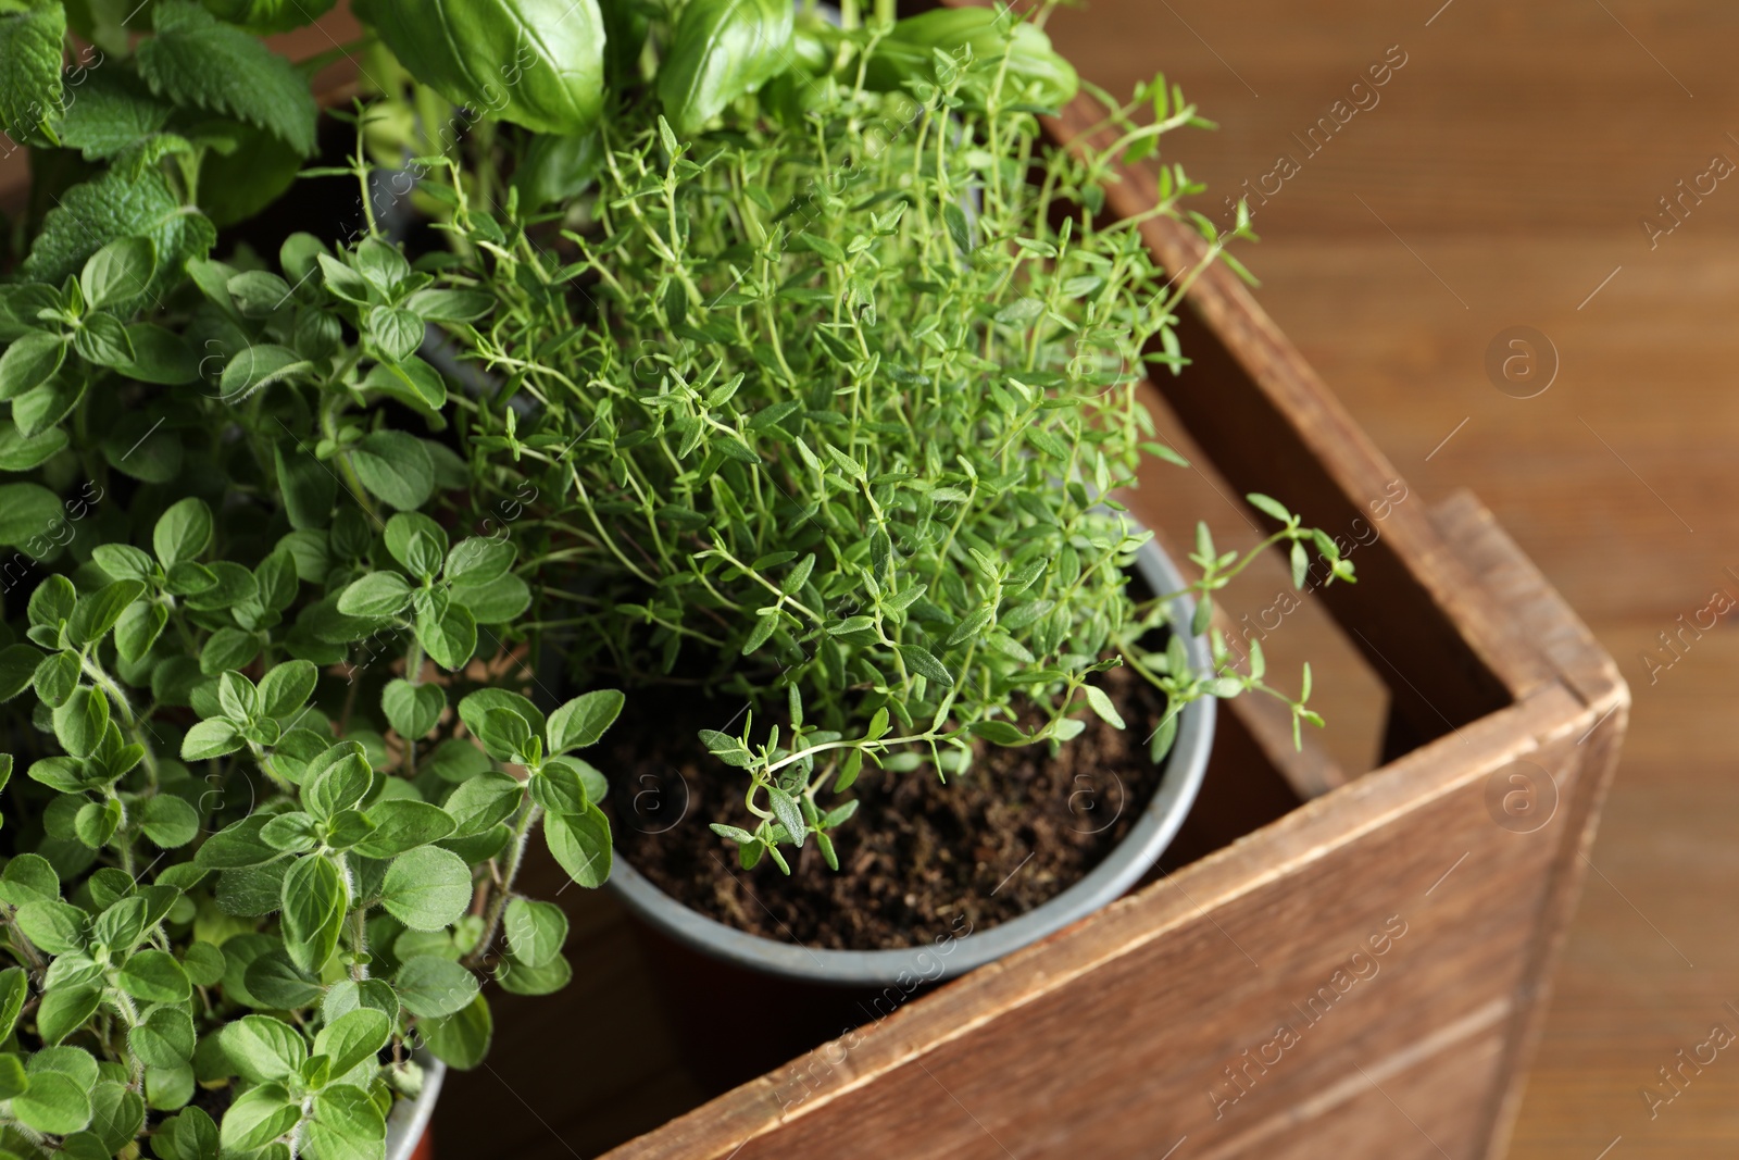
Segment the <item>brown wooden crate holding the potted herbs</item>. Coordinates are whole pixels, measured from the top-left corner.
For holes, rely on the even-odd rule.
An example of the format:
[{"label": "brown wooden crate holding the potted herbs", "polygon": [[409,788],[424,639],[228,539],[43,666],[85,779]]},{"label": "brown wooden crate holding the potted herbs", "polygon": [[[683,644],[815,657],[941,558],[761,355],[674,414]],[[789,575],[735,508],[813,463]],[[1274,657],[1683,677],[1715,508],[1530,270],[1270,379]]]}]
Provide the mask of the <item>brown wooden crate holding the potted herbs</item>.
[{"label": "brown wooden crate holding the potted herbs", "polygon": [[[1054,130],[1092,120],[1078,103]],[[1153,198],[1130,172],[1109,210]],[[1176,223],[1143,231],[1170,270],[1202,252]],[[1191,299],[1195,362],[1160,388],[1217,473],[1322,527],[1369,520],[1400,473],[1228,270]],[[626,917],[569,890],[576,986],[503,997],[436,1139],[610,1160],[1501,1157],[1629,694],[1471,496],[1393,506],[1356,565],[1322,602],[1388,685],[1381,769],[1294,753],[1283,711],[1238,699],[1155,880],[704,1104]],[[732,1033],[753,1016],[718,1012]]]}]

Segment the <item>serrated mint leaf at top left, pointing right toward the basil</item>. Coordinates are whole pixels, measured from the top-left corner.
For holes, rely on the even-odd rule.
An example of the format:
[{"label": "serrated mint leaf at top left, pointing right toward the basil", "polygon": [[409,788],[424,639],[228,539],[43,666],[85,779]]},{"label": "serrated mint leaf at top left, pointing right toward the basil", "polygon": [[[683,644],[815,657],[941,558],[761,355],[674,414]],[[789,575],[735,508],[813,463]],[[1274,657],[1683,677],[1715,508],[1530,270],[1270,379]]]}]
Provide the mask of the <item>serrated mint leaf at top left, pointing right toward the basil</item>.
[{"label": "serrated mint leaf at top left, pointing right toward the basil", "polygon": [[190,0],[158,0],[151,26],[157,37],[136,56],[151,92],[264,129],[303,157],[315,151],[318,108],[289,61]]}]

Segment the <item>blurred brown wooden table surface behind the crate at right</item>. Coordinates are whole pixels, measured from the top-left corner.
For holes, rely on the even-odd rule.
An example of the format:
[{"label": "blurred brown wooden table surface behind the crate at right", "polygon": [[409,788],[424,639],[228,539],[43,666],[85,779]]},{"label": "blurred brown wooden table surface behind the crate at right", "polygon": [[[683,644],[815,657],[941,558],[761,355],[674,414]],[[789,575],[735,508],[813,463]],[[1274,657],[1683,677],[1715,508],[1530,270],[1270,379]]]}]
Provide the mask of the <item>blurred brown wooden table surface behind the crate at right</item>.
[{"label": "blurred brown wooden table surface behind the crate at right", "polygon": [[[1739,602],[1739,181],[1704,174],[1739,162],[1739,9],[1092,0],[1052,33],[1118,96],[1163,66],[1223,125],[1170,151],[1212,205],[1278,188],[1243,252],[1268,311],[1409,482],[1478,492],[1633,687],[1511,1155],[1734,1155],[1739,1040],[1711,1030],[1739,1035],[1739,633],[1715,623]],[[1556,351],[1534,398],[1487,372],[1511,327]]]}]

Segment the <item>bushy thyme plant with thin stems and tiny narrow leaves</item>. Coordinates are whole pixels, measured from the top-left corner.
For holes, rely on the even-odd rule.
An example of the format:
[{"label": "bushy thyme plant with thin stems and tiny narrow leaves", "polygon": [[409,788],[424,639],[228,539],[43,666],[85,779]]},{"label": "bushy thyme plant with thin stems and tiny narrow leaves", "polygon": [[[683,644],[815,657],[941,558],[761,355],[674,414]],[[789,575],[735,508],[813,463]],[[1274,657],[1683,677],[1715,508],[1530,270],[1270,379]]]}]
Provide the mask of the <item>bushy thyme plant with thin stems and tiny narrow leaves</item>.
[{"label": "bushy thyme plant with thin stems and tiny narrow leaves", "polygon": [[[866,760],[946,777],[986,743],[1066,743],[1083,713],[1123,727],[1094,683],[1116,664],[1170,706],[1155,760],[1203,696],[1254,689],[1316,722],[1261,668],[1186,666],[1177,631],[1247,562],[1205,529],[1200,614],[1170,645],[1174,593],[1129,590],[1149,534],[1115,496],[1143,456],[1177,459],[1136,388],[1184,365],[1193,277],[1155,266],[1139,226],[1198,186],[1170,165],[1146,214],[1097,210],[1118,160],[1205,122],[1158,78],[1109,104],[1109,146],[1052,150],[1036,113],[1073,73],[1036,28],[986,17],[976,40],[929,17],[817,33],[817,70],[716,130],[628,101],[558,240],[450,170],[463,277],[501,303],[452,329],[501,379],[464,416],[473,457],[506,452],[558,497],[527,529],[541,562],[586,562],[541,623],[574,631],[579,673],[751,701],[741,730],[703,734],[743,770],[743,817],[713,828],[744,866],[784,870],[781,847],[814,838],[836,868],[830,831],[856,807],[838,795]],[[1221,256],[1228,237],[1189,219]],[[1316,548],[1351,576],[1252,499],[1299,567]]]}]

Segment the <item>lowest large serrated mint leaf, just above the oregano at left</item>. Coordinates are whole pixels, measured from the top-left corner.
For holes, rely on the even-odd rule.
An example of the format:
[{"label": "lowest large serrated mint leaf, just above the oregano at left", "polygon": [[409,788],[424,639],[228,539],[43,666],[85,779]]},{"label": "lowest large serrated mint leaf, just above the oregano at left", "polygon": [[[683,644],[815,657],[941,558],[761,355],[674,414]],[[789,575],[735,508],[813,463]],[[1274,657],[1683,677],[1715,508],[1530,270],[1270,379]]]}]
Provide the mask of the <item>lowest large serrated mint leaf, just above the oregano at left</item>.
[{"label": "lowest large serrated mint leaf, just above the oregano at left", "polygon": [[113,169],[75,184],[43,216],[24,259],[24,275],[61,283],[83,270],[85,259],[99,249],[127,237],[151,238],[157,249],[157,275],[146,294],[146,299],[155,299],[181,277],[190,257],[210,250],[217,230],[203,214],[190,214],[157,169],[137,174]]}]

